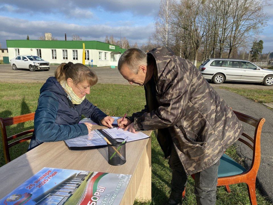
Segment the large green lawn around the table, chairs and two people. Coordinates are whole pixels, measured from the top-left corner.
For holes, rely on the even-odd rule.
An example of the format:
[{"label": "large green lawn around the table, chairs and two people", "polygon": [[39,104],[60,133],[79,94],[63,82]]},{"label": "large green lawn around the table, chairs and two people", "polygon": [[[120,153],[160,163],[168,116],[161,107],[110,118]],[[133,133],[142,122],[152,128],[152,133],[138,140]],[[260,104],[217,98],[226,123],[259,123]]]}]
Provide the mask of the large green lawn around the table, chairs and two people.
[{"label": "large green lawn around the table, chairs and two people", "polygon": [[[41,86],[42,83],[0,83],[0,116],[5,118],[34,112]],[[134,111],[141,110],[145,104],[143,87],[132,85],[97,84],[91,88],[90,95],[87,98],[105,113],[112,116],[123,116],[125,112],[131,115]],[[21,125],[12,126],[7,131],[11,135],[32,126],[33,122],[22,123]],[[1,144],[0,147],[0,166],[3,166],[4,158]],[[11,149],[11,158],[14,159],[25,153],[27,147],[27,142],[15,145]],[[238,158],[234,146],[229,148],[226,153],[238,162],[242,161],[242,159]],[[169,169],[167,160],[164,159],[155,136],[152,135],[152,201],[146,203],[136,201],[135,205],[164,204],[169,196],[170,181],[171,170]],[[250,204],[245,184],[230,185],[230,188],[231,193],[228,194],[224,187],[218,187],[216,204]],[[187,197],[183,201],[183,204],[196,204],[193,191],[194,181],[189,177],[186,191]],[[259,194],[258,190],[256,193],[258,204],[270,204]]]}]

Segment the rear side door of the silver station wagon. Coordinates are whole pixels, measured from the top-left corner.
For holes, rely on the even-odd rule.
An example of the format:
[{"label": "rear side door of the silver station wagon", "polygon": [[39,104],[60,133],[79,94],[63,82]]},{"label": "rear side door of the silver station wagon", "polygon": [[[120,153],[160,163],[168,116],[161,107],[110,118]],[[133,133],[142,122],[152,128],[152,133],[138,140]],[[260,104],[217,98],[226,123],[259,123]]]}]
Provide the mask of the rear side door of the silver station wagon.
[{"label": "rear side door of the silver station wagon", "polygon": [[226,60],[222,64],[222,70],[226,74],[226,80],[240,80],[242,76],[242,69],[238,61]]}]

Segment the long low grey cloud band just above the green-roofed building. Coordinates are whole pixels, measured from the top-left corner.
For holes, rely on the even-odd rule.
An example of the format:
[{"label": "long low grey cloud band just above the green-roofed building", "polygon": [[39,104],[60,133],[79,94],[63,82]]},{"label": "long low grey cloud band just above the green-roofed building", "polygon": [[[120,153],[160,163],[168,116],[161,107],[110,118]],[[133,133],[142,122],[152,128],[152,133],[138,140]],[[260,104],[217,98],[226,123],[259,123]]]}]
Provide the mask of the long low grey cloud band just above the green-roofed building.
[{"label": "long low grey cloud band just above the green-roofed building", "polygon": [[[72,35],[79,35],[82,40],[104,41],[105,36],[113,35],[117,40],[120,37],[120,26],[111,26],[105,24],[98,25],[78,25],[62,23],[57,21],[28,21],[10,17],[0,16],[0,43],[4,48],[5,40],[30,39],[36,40],[39,36],[44,36],[45,32],[52,33],[52,36],[58,40],[64,40],[64,34],[67,34],[67,40],[72,40]],[[139,45],[147,41],[154,30],[152,23],[143,26],[123,26],[121,37],[125,36],[130,44],[137,42]]]}]

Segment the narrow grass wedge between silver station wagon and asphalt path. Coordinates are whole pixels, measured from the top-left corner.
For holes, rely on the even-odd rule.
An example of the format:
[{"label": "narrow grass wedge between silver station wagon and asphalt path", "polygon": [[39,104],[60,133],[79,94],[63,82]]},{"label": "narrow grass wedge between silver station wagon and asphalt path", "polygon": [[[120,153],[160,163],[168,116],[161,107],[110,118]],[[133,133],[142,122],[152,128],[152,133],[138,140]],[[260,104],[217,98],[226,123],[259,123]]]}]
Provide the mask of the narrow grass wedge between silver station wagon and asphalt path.
[{"label": "narrow grass wedge between silver station wagon and asphalt path", "polygon": [[220,87],[242,95],[248,99],[251,99],[258,103],[272,103],[273,102],[273,89],[247,89],[247,88],[230,88],[230,87]]}]

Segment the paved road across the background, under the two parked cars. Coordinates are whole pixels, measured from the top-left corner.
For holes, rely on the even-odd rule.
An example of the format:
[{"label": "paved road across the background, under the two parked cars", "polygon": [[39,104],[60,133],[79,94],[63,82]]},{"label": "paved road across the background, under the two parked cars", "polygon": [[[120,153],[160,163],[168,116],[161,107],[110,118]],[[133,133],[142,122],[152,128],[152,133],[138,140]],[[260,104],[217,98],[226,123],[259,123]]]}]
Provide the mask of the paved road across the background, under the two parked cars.
[{"label": "paved road across the background, under the two parked cars", "polygon": [[[57,66],[50,66],[49,71],[35,71],[30,72],[28,69],[12,70],[10,65],[0,65],[0,82],[46,82],[50,76],[54,76],[54,71]],[[98,75],[98,83],[118,83],[128,84],[128,82],[121,77],[117,68],[100,67],[93,68]],[[245,82],[225,82],[220,85],[210,82],[212,87],[235,87],[235,88],[255,88],[255,89],[273,89],[273,86],[263,86],[260,83],[245,83]]]}]

